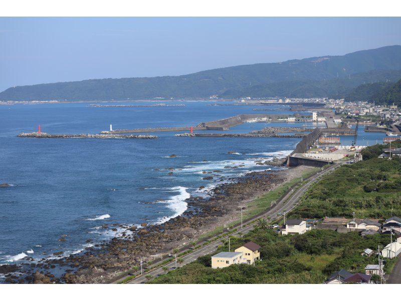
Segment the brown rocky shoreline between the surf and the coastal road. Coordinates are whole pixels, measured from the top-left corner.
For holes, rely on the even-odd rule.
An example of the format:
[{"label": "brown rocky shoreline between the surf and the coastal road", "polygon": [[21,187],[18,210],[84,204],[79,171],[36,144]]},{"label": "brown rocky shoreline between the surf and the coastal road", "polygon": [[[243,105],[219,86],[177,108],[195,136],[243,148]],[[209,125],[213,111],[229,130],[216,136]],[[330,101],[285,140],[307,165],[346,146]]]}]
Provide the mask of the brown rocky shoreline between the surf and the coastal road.
[{"label": "brown rocky shoreline between the surf and the coastal road", "polygon": [[[282,160],[281,160],[282,161]],[[281,162],[282,163],[282,162]],[[273,164],[279,164],[276,160]],[[273,165],[272,164],[272,165]],[[297,167],[300,168],[300,167]],[[183,215],[159,225],[141,224],[141,228],[124,224],[103,225],[121,236],[99,242],[85,251],[56,259],[32,263],[25,257],[16,275],[15,267],[6,274],[9,283],[104,283],[117,273],[139,266],[140,257],[150,262],[157,255],[170,253],[182,244],[196,241],[200,235],[216,226],[230,223],[238,217],[238,206],[296,177],[293,169],[249,173],[232,183],[221,184],[209,192],[210,198],[190,197]],[[88,240],[87,242],[91,242]],[[22,261],[24,261],[22,260]],[[57,274],[57,269],[64,271]]]}]

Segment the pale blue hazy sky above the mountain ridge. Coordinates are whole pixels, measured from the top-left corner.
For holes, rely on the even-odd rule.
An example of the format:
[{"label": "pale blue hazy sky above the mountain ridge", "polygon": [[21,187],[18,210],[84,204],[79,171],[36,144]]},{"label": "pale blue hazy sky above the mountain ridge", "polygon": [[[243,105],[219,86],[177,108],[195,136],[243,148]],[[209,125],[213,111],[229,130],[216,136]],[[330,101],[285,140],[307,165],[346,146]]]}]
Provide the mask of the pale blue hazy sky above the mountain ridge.
[{"label": "pale blue hazy sky above the mountain ridge", "polygon": [[401,45],[401,18],[0,18],[0,91]]}]

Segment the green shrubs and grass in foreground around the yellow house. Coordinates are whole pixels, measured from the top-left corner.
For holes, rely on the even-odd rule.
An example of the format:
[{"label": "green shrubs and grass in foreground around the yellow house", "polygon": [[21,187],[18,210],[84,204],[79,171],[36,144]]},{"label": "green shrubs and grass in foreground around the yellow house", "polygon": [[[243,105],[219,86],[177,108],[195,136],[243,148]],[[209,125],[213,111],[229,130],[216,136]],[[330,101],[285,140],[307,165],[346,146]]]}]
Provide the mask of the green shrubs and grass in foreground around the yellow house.
[{"label": "green shrubs and grass in foreground around the yellow house", "polygon": [[[206,255],[150,283],[322,283],[341,268],[364,273],[366,264],[377,263],[377,256],[361,256],[363,250],[385,245],[388,239],[387,235],[363,238],[357,232],[344,234],[318,229],[303,235],[279,236],[271,229],[256,228],[243,238],[231,238],[231,249],[251,240],[262,246],[262,260],[254,266],[212,269],[211,255]],[[220,251],[228,251],[228,242],[216,253]]]}]

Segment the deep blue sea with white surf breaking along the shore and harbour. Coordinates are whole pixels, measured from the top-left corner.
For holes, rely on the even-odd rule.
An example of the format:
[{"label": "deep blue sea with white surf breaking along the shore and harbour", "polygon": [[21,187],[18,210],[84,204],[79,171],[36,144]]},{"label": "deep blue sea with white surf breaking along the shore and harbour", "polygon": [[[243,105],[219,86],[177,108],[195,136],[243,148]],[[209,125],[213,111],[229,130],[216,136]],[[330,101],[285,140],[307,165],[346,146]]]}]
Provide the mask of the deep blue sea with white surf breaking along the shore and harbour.
[{"label": "deep blue sea with white surf breaking along the shore and harbour", "polygon": [[[0,183],[12,185],[0,188],[0,264],[16,263],[26,255],[38,260],[56,251],[78,253],[96,240],[118,234],[102,229],[104,224],[164,222],[185,211],[184,200],[190,195],[206,195],[229,178],[265,170],[269,167],[258,166],[255,160],[284,157],[300,140],[175,137],[177,132],[146,133],[158,135],[155,140],[17,137],[20,132],[36,131],[39,124],[47,133],[98,133],[108,130],[110,124],[114,129],[195,126],[240,113],[291,113],[276,110],[289,108],[284,105],[269,105],[271,111],[253,111],[257,106],[172,103],[185,106],[0,105]],[[246,123],[225,132],[290,125],[299,126]],[[384,136],[364,133],[363,128],[359,132],[363,145],[376,139],[381,142]],[[351,140],[342,138],[343,144]],[[177,157],[169,158],[171,154]],[[244,167],[224,168],[240,165]],[[176,170],[173,175],[168,175],[169,168]],[[213,181],[202,179],[204,171],[215,170],[222,171],[220,177],[214,173]],[[200,186],[206,189],[199,190]],[[62,236],[66,241],[59,241]],[[86,243],[88,239],[93,242]]]}]

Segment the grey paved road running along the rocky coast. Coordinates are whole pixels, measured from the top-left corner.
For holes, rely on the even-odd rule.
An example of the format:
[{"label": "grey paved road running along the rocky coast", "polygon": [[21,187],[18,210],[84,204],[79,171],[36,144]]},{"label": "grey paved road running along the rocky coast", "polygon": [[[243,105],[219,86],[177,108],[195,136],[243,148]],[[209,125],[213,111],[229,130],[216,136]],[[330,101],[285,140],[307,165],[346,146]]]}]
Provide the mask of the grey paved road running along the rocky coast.
[{"label": "grey paved road running along the rocky coast", "polygon": [[[306,190],[316,181],[318,181],[322,176],[326,175],[327,173],[330,173],[332,171],[334,171],[335,169],[337,169],[338,167],[340,167],[340,165],[342,165],[344,163],[340,163],[340,164],[335,164],[332,165],[331,167],[327,168],[326,170],[324,170],[323,172],[319,172],[316,175],[312,176],[308,183],[306,183],[305,185],[303,185],[300,189],[298,189],[298,191],[296,191],[295,193],[289,193],[287,194],[286,197],[284,197],[279,203],[277,203],[277,205],[275,207],[273,207],[272,209],[268,210],[266,212],[266,214],[264,214],[263,216],[259,216],[259,218],[265,218],[265,217],[269,217],[270,220],[275,220],[278,219],[279,213],[288,213],[289,211],[291,211],[297,204],[298,202],[301,200],[302,195],[306,192]],[[245,234],[249,231],[251,231],[252,229],[254,229],[254,225],[245,225],[243,228],[238,229],[238,231],[236,231],[235,233],[233,233],[232,235],[238,235],[239,232]],[[222,241],[227,240],[227,237],[223,237],[220,238],[204,247],[201,247],[189,254],[186,254],[184,256],[181,256],[180,258],[183,259],[183,262],[181,264],[177,264],[177,267],[185,265],[187,263],[190,263],[194,260],[196,260],[198,257],[203,256],[203,255],[207,255],[207,254],[211,254],[213,252],[216,251],[217,247],[219,245],[221,245]],[[174,269],[175,268],[175,260],[172,262],[169,262],[167,264],[165,264],[164,266],[168,267],[169,270]],[[154,269],[150,272],[144,273],[144,275],[151,275],[152,277],[155,276],[159,276],[161,274],[164,274],[164,270],[162,269],[162,267],[159,267],[157,269]],[[139,276],[136,277],[130,281],[128,281],[127,283],[145,283],[148,279],[145,278],[145,276]],[[127,276],[128,277],[128,276]],[[124,278],[120,278],[118,279],[118,281],[123,280]]]}]

